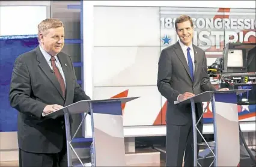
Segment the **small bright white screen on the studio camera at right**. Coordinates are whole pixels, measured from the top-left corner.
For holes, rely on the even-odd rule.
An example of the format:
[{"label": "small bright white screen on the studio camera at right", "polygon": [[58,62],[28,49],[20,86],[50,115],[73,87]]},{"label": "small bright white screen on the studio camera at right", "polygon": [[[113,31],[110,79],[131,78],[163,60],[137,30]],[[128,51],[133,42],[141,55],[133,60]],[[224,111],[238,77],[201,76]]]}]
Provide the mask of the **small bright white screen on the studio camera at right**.
[{"label": "small bright white screen on the studio camera at right", "polygon": [[227,67],[243,67],[243,50],[228,50]]}]

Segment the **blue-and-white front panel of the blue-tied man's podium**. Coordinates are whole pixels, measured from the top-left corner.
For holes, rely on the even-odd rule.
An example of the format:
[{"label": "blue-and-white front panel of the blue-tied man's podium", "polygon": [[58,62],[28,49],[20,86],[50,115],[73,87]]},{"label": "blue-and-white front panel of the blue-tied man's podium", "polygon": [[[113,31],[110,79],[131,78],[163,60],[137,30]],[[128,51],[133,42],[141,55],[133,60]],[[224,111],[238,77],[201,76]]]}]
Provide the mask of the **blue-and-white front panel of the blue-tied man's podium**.
[{"label": "blue-and-white front panel of the blue-tied man's podium", "polygon": [[236,93],[215,94],[216,166],[237,166],[240,162],[239,118]]}]

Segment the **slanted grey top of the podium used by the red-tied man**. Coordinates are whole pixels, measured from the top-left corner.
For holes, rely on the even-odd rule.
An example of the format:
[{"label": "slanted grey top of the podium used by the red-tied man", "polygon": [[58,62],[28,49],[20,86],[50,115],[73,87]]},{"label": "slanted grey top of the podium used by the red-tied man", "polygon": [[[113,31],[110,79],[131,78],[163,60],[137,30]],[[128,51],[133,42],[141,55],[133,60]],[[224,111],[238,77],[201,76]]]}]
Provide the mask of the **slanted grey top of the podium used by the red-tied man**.
[{"label": "slanted grey top of the podium used by the red-tied man", "polygon": [[123,98],[113,98],[113,99],[100,99],[100,100],[81,100],[79,102],[73,103],[69,106],[66,106],[62,109],[59,109],[54,112],[50,112],[48,114],[45,114],[43,112],[42,116],[43,117],[54,117],[58,115],[64,115],[64,110],[67,109],[70,114],[80,114],[84,112],[90,112],[90,103],[95,103],[95,102],[114,102],[114,101],[121,101],[121,103],[127,103],[129,101],[132,101],[134,99],[138,99],[139,97],[123,97]]}]

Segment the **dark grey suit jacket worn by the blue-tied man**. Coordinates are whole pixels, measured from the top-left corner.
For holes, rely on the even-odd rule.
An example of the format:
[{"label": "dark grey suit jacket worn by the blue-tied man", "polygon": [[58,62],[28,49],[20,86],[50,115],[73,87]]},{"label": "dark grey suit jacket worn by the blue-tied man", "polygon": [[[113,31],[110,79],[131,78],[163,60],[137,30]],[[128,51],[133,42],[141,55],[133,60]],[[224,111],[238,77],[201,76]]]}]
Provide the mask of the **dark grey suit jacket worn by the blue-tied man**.
[{"label": "dark grey suit jacket worn by the blue-tied man", "polygon": [[[177,42],[162,50],[159,58],[157,88],[167,100],[166,123],[184,125],[192,121],[190,105],[174,105],[179,94],[190,92],[200,94],[215,90],[207,76],[206,54],[193,45],[195,55],[194,82],[190,77],[186,58]],[[203,113],[201,103],[196,104],[198,115]]]}]

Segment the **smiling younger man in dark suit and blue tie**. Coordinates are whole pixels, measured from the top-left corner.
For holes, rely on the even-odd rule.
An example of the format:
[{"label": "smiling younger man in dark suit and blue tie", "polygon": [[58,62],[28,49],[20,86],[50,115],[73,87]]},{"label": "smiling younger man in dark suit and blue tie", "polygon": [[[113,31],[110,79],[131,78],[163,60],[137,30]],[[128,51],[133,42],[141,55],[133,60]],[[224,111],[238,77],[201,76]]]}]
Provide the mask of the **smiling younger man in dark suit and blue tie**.
[{"label": "smiling younger man in dark suit and blue tie", "polygon": [[[207,76],[206,54],[192,44],[193,22],[189,16],[175,20],[180,40],[162,50],[159,58],[157,87],[167,100],[166,111],[166,166],[194,166],[192,113],[190,105],[174,105],[200,94],[215,90]],[[227,89],[223,89],[227,90]],[[197,120],[203,114],[201,103],[195,105]],[[203,132],[203,123],[198,124]],[[201,141],[198,135],[198,142]]]}]

